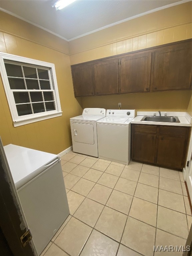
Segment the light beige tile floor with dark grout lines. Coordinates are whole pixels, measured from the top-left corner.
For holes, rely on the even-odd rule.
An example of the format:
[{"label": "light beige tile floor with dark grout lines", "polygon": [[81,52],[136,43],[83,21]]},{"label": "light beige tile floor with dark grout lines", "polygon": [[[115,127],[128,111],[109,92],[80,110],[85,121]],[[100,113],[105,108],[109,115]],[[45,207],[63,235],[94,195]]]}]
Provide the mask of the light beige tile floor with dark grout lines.
[{"label": "light beige tile floor with dark grout lines", "polygon": [[61,164],[70,215],[41,256],[156,256],[164,252],[154,245],[185,245],[192,216],[181,172],[73,151]]}]

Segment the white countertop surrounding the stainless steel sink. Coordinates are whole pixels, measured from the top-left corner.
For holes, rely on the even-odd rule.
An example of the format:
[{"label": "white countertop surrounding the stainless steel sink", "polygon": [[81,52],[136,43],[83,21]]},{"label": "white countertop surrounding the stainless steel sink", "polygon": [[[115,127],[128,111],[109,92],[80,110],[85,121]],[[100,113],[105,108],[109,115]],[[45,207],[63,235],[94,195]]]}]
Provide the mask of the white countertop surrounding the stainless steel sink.
[{"label": "white countertop surrounding the stainless steel sink", "polygon": [[137,116],[131,121],[132,124],[151,124],[151,125],[174,125],[174,126],[192,126],[192,117],[187,112],[161,112],[161,116],[164,116],[166,113],[167,116],[177,116],[180,123],[165,123],[165,122],[149,122],[141,121],[144,116],[153,116],[156,113],[156,116],[159,116],[159,113],[149,112],[149,111],[138,111]]}]

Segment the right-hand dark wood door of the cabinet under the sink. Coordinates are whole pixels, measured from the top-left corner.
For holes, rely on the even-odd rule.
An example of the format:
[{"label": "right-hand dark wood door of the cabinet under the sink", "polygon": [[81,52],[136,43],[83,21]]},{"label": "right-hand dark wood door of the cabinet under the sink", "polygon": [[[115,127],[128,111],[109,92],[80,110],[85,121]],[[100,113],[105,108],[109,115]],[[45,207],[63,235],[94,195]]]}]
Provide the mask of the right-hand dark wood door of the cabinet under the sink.
[{"label": "right-hand dark wood door of the cabinet under the sink", "polygon": [[168,168],[183,168],[185,138],[159,136],[157,164]]}]

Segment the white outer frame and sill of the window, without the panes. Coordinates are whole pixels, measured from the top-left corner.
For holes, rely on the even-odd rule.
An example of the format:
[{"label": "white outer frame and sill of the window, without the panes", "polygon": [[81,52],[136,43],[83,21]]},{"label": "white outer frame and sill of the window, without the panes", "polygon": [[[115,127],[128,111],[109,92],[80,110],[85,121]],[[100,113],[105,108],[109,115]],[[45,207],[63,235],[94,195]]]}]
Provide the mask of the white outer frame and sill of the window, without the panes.
[{"label": "white outer frame and sill of the window, without the panes", "polygon": [[[54,92],[53,94],[54,94],[56,110],[40,112],[40,113],[35,113],[35,114],[30,114],[30,115],[18,116],[15,99],[13,96],[13,91],[22,91],[22,90],[11,90],[10,89],[4,60],[5,61],[6,60],[16,61],[16,62],[26,63],[29,65],[39,66],[39,68],[44,67],[44,68],[50,69],[50,75],[51,75],[50,82],[51,82],[52,90]],[[17,56],[17,55],[0,52],[0,73],[1,73],[3,86],[5,89],[5,93],[6,93],[7,101],[9,104],[9,109],[10,109],[11,116],[13,119],[14,127],[62,115],[61,104],[60,104],[60,99],[59,99],[59,91],[58,91],[58,87],[57,87],[55,65],[53,63],[34,60],[34,59],[30,59],[30,58],[25,58],[25,57],[21,57],[21,56]],[[31,91],[33,91],[33,90],[31,90]]]}]

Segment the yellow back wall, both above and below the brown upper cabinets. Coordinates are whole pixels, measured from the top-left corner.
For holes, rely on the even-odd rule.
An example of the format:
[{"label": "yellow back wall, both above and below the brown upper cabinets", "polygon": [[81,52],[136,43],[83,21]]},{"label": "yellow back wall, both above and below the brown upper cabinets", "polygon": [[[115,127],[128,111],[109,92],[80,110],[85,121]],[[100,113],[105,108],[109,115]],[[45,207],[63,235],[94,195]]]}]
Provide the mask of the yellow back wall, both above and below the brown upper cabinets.
[{"label": "yellow back wall, both above and below the brown upper cabinets", "polygon": [[[192,38],[192,2],[173,6],[69,42],[71,65]],[[191,91],[82,97],[85,107],[187,111]]]}]

